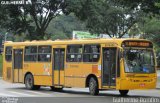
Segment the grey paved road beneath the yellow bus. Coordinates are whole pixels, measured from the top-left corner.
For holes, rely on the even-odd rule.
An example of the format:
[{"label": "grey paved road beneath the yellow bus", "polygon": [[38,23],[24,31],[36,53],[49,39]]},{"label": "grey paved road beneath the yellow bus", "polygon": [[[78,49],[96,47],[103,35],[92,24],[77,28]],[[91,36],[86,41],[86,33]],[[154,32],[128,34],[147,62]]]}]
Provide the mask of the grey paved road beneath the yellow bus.
[{"label": "grey paved road beneath the yellow bus", "polygon": [[[88,89],[82,88],[65,88],[62,92],[55,92],[51,91],[48,87],[43,87],[40,90],[32,91],[26,90],[23,84],[11,84],[3,81],[2,79],[0,79],[0,97],[3,97],[3,99],[5,99],[4,97],[21,97],[18,98],[21,102],[16,103],[44,103],[45,100],[47,101],[47,103],[53,103],[52,101],[56,101],[59,103],[112,103],[114,98],[122,98],[119,95],[118,91],[100,91],[100,94],[98,96],[91,96],[89,95]],[[160,98],[160,89],[133,90],[130,91],[127,96],[127,98],[141,97]],[[0,100],[0,103],[1,101],[2,100]]]}]

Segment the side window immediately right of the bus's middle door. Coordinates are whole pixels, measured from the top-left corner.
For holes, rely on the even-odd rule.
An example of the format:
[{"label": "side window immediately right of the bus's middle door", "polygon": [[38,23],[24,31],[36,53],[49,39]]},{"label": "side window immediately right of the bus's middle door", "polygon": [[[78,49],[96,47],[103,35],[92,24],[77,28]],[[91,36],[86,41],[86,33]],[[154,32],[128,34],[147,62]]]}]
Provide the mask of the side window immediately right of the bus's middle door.
[{"label": "side window immediately right of the bus's middle door", "polygon": [[67,62],[82,61],[82,45],[68,45],[67,47]]}]

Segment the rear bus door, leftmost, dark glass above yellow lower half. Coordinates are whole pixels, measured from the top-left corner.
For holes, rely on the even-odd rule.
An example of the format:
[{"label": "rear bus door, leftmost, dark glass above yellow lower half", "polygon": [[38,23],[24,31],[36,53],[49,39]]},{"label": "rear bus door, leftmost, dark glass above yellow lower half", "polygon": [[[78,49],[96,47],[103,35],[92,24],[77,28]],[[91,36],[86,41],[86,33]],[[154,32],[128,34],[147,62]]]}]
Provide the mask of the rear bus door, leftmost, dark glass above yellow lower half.
[{"label": "rear bus door, leftmost, dark glass above yellow lower half", "polygon": [[23,81],[23,49],[14,49],[13,52],[13,82]]}]

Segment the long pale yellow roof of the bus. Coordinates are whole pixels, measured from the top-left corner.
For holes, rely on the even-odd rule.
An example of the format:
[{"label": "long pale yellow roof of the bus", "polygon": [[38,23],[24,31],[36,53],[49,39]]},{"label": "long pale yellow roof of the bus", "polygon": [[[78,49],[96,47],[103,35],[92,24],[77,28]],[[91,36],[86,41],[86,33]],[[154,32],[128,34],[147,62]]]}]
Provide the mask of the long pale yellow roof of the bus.
[{"label": "long pale yellow roof of the bus", "polygon": [[131,40],[131,41],[148,41],[146,39],[137,39],[137,38],[109,38],[109,39],[102,39],[102,38],[96,38],[96,39],[73,39],[73,40],[33,40],[33,41],[24,41],[24,42],[12,42],[12,41],[6,41],[4,45],[6,46],[18,46],[18,45],[66,45],[66,44],[98,44],[98,43],[116,43],[119,46],[123,41]]}]

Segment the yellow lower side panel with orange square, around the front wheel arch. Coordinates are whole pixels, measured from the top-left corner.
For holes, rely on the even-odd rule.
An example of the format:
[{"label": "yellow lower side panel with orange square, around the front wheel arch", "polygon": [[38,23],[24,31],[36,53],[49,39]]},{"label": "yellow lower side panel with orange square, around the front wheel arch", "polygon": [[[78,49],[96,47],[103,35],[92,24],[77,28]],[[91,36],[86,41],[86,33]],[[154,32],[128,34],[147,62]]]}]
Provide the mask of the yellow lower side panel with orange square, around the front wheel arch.
[{"label": "yellow lower side panel with orange square, around the front wheel arch", "polygon": [[[99,63],[66,63],[65,68],[65,86],[85,87],[86,78],[89,75],[101,76],[101,70],[98,70]],[[100,68],[100,66],[99,66]],[[101,80],[99,80],[101,81]],[[99,87],[101,87],[99,82]]]}]

